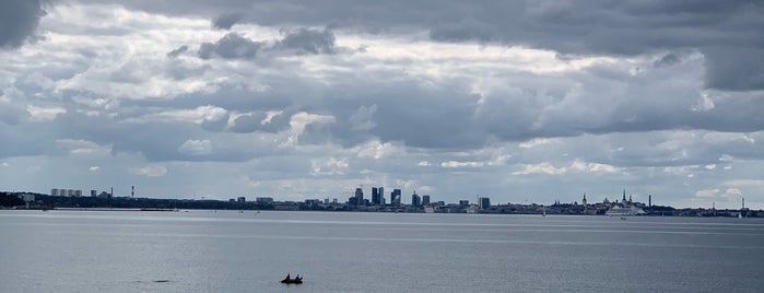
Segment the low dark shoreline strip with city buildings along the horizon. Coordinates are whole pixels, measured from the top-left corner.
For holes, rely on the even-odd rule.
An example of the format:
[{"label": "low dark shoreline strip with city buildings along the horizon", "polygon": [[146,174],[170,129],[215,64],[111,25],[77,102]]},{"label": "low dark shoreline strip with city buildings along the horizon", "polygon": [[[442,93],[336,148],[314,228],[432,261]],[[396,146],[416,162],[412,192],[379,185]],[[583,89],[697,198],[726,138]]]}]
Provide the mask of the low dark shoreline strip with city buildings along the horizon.
[{"label": "low dark shoreline strip with city buildings along the horizon", "polygon": [[[415,194],[414,194],[415,195]],[[427,198],[428,199],[428,198]],[[275,210],[275,211],[357,211],[357,212],[408,212],[408,213],[482,213],[482,214],[581,214],[581,215],[607,215],[614,209],[630,208],[638,210],[638,215],[644,216],[727,216],[727,218],[764,218],[762,210],[717,210],[702,208],[675,209],[667,206],[654,206],[632,201],[623,198],[610,201],[607,198],[602,202],[589,203],[584,196],[583,201],[563,203],[555,201],[552,204],[538,203],[503,203],[491,204],[487,198],[479,198],[479,202],[470,203],[460,200],[458,203],[436,202],[413,202],[412,204],[396,201],[390,204],[374,204],[367,200],[357,200],[351,197],[348,202],[321,201],[308,199],[297,201],[275,201],[272,198],[259,197],[255,201],[247,201],[244,197],[230,200],[215,199],[158,199],[158,198],[133,198],[133,197],[111,197],[109,194],[98,196],[50,196],[35,192],[9,192],[0,191],[0,209],[16,210],[146,210],[146,211],[175,211],[175,210]],[[637,215],[637,213],[628,214]]]}]

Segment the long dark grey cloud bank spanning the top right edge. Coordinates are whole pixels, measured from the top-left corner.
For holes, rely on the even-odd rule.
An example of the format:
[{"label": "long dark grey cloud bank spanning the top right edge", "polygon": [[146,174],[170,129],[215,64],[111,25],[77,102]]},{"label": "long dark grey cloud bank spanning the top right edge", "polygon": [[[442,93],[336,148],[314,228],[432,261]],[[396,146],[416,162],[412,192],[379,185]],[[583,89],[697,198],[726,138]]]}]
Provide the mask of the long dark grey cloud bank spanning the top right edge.
[{"label": "long dark grey cloud bank spanning the top right edge", "polygon": [[[764,47],[761,30],[764,4],[755,0],[470,3],[227,0],[216,1],[214,5],[185,1],[179,4],[131,1],[127,5],[167,14],[219,15],[237,11],[242,22],[270,26],[332,24],[342,30],[372,33],[426,31],[431,38],[442,42],[496,42],[574,55],[633,56],[695,48],[706,52],[709,59],[707,87],[764,89],[761,79],[754,79],[762,74],[761,61],[750,61],[761,60]],[[743,56],[737,57],[741,52]],[[745,70],[729,71],[729,67]],[[754,78],[747,78],[750,75]]]}]

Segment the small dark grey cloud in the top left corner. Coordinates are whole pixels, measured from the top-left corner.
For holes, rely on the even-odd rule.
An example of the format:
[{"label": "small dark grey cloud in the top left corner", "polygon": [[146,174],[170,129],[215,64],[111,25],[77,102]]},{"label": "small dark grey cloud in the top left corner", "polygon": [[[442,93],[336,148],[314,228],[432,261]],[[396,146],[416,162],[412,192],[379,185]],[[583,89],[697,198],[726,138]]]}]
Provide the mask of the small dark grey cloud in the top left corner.
[{"label": "small dark grey cloud in the top left corner", "polygon": [[21,46],[34,34],[43,15],[39,0],[0,1],[0,48]]}]

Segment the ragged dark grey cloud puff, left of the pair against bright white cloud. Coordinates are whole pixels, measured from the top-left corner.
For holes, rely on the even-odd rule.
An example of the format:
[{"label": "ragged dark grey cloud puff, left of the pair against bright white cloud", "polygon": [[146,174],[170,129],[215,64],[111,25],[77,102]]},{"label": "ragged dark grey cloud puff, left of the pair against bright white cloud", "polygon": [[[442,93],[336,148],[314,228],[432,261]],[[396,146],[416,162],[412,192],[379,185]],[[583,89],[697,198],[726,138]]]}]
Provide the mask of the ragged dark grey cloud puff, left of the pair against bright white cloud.
[{"label": "ragged dark grey cloud puff, left of the pair against bright white cloud", "polygon": [[215,43],[202,43],[198,55],[201,59],[210,59],[213,56],[224,59],[254,58],[262,45],[237,33],[228,33]]}]

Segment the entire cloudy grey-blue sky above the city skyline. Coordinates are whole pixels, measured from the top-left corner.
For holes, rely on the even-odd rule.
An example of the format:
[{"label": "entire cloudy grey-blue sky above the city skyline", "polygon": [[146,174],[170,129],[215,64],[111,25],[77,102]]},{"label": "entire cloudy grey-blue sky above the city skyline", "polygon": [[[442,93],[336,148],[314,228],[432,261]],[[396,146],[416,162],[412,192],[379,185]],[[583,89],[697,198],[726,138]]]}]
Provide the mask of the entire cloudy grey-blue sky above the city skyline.
[{"label": "entire cloudy grey-blue sky above the city skyline", "polygon": [[764,209],[761,1],[0,1],[0,190]]}]

